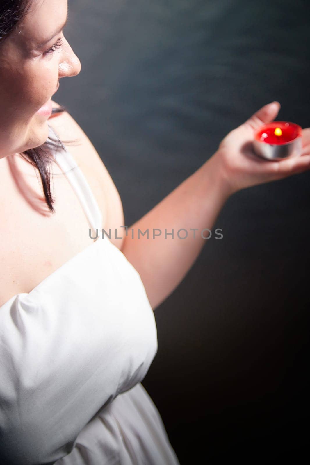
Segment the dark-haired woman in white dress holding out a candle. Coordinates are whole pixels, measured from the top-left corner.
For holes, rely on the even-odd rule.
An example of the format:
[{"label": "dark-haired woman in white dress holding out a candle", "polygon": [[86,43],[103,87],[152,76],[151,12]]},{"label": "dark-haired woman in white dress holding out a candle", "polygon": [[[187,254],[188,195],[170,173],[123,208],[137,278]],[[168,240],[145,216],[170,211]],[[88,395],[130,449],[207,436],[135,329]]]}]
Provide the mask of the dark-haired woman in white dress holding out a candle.
[{"label": "dark-haired woman in white dress holding out a candle", "polygon": [[[67,0],[0,5],[0,459],[177,464],[140,383],[157,350],[153,310],[233,193],[309,169],[310,128],[300,158],[258,159],[254,130],[279,111],[263,106],[126,234],[99,155],[51,100],[59,79],[81,70],[66,18]],[[69,152],[57,135],[81,144]],[[180,239],[181,228],[197,233]],[[138,239],[139,229],[162,234]]]}]

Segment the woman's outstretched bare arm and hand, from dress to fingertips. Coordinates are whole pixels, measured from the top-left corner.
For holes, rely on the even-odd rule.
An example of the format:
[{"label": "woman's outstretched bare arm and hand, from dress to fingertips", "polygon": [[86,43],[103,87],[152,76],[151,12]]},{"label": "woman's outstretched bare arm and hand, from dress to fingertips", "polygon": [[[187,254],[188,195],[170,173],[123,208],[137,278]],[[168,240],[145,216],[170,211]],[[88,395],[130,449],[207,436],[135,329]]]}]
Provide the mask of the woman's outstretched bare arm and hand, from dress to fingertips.
[{"label": "woman's outstretched bare arm and hand, from dress to fingertips", "polygon": [[[153,309],[174,291],[195,262],[206,242],[201,236],[202,230],[211,230],[211,245],[212,240],[216,240],[212,227],[230,195],[310,168],[309,128],[303,130],[301,157],[270,161],[253,154],[252,140],[256,128],[274,120],[279,108],[279,103],[263,106],[243,125],[231,131],[209,160],[128,228],[121,251],[139,272]],[[161,235],[154,239],[153,228],[161,230]],[[177,236],[181,228],[188,232],[186,239]],[[133,239],[131,229],[134,231]],[[138,239],[138,229],[142,233],[148,229],[149,239],[142,234]],[[165,229],[167,233],[174,229],[173,239],[171,235],[165,238]],[[195,239],[191,229],[198,229]],[[181,237],[185,235],[185,231],[180,232]],[[208,231],[204,232],[204,236],[209,236]]]}]

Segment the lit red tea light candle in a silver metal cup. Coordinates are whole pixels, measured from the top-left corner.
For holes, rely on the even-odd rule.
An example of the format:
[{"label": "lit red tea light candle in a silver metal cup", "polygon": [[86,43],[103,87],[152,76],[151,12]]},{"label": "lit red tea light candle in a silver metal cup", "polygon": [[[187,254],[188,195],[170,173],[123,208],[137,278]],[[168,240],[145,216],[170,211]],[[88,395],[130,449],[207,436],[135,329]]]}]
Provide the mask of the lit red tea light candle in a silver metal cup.
[{"label": "lit red tea light candle in a silver metal cup", "polygon": [[256,130],[253,146],[256,155],[268,160],[299,157],[302,153],[302,128],[288,121],[272,121]]}]

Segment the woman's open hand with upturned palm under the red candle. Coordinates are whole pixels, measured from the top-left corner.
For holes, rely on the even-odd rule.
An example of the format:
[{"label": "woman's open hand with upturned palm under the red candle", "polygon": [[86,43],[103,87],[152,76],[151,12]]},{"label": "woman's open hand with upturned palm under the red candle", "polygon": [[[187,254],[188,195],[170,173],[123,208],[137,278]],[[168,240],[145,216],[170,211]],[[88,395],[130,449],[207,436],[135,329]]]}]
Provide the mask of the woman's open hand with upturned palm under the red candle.
[{"label": "woman's open hand with upturned palm under the red candle", "polygon": [[302,155],[283,160],[265,160],[255,155],[256,129],[275,120],[279,102],[272,102],[254,113],[249,120],[227,134],[213,155],[227,182],[230,193],[250,186],[286,178],[310,169],[310,128],[303,129]]}]

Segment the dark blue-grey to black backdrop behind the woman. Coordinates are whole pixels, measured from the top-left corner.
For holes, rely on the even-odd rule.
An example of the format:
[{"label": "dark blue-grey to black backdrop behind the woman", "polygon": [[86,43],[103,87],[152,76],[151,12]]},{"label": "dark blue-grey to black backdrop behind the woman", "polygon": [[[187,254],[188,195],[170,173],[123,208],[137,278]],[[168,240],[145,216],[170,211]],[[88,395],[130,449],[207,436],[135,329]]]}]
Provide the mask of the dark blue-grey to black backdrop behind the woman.
[{"label": "dark blue-grey to black backdrop behind the woman", "polygon": [[[74,0],[81,73],[55,100],[87,133],[130,226],[261,106],[310,126],[305,1]],[[310,173],[236,193],[155,310],[143,381],[182,465],[308,456]],[[206,226],[207,227],[207,226]],[[306,449],[307,447],[307,449]],[[159,464],[162,465],[162,464]]]}]

